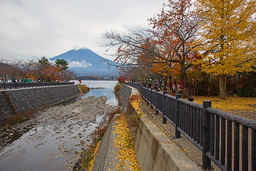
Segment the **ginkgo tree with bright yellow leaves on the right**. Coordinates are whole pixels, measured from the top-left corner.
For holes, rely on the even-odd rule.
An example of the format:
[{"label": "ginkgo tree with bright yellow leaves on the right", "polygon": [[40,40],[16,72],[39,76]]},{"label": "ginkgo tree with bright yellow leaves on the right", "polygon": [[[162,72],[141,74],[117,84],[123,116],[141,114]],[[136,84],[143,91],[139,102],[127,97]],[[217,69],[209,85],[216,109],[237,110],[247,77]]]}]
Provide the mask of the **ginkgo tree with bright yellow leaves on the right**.
[{"label": "ginkgo tree with bright yellow leaves on the right", "polygon": [[197,0],[195,6],[202,18],[198,62],[202,71],[220,76],[220,99],[225,99],[227,75],[256,66],[256,1]]}]

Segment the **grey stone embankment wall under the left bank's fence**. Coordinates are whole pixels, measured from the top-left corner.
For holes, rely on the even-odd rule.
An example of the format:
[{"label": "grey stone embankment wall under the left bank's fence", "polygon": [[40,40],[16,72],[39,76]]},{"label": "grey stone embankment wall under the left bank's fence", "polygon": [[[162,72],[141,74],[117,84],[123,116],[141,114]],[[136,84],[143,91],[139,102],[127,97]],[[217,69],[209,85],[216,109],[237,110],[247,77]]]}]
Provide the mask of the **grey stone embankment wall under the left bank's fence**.
[{"label": "grey stone embankment wall under the left bank's fence", "polygon": [[63,103],[78,95],[80,95],[80,90],[76,85],[0,91],[0,123],[8,116]]}]

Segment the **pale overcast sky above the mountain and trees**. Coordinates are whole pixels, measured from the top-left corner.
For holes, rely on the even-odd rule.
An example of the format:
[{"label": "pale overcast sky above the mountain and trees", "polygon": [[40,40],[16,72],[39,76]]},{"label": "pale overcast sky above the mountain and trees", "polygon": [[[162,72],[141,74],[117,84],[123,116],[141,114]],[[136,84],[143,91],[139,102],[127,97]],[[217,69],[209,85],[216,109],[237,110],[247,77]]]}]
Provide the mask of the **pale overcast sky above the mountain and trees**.
[{"label": "pale overcast sky above the mountain and trees", "polygon": [[149,27],[162,0],[0,0],[0,59],[51,58],[87,47],[103,56],[106,31]]}]

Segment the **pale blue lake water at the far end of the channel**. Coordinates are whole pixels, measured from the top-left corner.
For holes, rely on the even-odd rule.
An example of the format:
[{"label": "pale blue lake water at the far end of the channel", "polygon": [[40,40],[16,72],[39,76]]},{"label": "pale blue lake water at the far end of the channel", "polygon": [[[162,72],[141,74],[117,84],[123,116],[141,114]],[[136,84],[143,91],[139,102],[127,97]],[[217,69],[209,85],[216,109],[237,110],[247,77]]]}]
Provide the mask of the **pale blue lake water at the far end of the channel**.
[{"label": "pale blue lake water at the far end of the channel", "polygon": [[[74,80],[76,84],[79,84],[78,80]],[[114,88],[117,81],[111,80],[82,80],[81,84],[86,84],[87,87],[90,87],[90,91],[82,95],[81,98],[94,96],[95,98],[99,96],[106,96],[108,105],[118,105],[117,97],[114,93]]]}]

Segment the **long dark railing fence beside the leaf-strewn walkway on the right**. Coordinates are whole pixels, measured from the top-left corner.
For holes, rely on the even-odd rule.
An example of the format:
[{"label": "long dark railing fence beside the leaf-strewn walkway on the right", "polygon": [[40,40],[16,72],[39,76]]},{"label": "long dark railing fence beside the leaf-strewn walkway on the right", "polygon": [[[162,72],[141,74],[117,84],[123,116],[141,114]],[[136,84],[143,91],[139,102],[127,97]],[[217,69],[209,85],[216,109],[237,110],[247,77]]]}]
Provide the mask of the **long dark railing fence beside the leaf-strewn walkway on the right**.
[{"label": "long dark railing fence beside the leaf-strewn walkway on the right", "polygon": [[202,166],[211,168],[213,161],[221,170],[256,170],[256,121],[212,108],[211,101],[203,104],[170,96],[141,84],[126,83],[140,90],[141,95],[180,133],[202,151]]}]

